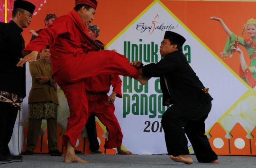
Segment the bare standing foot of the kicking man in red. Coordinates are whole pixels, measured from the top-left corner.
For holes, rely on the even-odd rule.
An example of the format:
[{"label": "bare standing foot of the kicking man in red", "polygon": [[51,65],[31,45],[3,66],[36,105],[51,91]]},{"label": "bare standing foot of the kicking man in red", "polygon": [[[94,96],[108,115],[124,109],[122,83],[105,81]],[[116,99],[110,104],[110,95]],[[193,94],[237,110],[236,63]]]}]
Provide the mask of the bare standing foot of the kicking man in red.
[{"label": "bare standing foot of the kicking man in red", "polygon": [[82,160],[81,158],[79,158],[79,157],[75,154],[74,148],[73,148],[73,146],[72,146],[72,144],[70,143],[69,140],[68,140],[68,142],[67,142],[67,151],[66,151],[66,153],[65,153],[63,162],[67,162],[67,163],[70,163],[70,162],[89,163],[89,161],[87,161],[87,160]]}]

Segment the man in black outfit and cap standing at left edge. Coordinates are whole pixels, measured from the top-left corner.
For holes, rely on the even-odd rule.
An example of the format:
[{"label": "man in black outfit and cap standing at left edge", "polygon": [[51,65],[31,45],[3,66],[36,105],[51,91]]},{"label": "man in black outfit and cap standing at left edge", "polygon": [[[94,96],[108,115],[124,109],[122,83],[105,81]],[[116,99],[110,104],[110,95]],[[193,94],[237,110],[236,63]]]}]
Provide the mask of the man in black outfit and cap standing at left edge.
[{"label": "man in black outfit and cap standing at left edge", "polygon": [[12,20],[0,23],[0,161],[10,161],[10,141],[18,109],[26,97],[26,68],[17,67],[22,58],[22,29],[31,23],[36,6],[25,0],[15,0]]}]

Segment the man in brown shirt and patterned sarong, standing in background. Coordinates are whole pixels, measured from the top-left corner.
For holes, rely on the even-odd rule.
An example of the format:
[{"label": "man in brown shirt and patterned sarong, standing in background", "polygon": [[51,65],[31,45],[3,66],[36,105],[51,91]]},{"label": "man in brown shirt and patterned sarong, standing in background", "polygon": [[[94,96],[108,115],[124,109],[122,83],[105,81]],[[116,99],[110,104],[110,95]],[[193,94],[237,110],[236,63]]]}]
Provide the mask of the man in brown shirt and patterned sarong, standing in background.
[{"label": "man in brown shirt and patterned sarong, standing in background", "polygon": [[37,145],[42,119],[47,120],[48,149],[51,156],[61,156],[57,147],[57,84],[51,76],[50,50],[39,53],[40,59],[29,64],[32,87],[28,97],[27,149],[24,155],[31,155]]}]

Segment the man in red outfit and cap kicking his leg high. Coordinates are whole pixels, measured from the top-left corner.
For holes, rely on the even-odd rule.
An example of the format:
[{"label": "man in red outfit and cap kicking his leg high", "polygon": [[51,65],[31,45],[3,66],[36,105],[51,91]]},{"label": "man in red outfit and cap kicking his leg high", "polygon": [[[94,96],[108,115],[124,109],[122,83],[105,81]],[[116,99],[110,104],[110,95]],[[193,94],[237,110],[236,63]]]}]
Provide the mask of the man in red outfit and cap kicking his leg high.
[{"label": "man in red outfit and cap kicking his leg high", "polygon": [[34,61],[40,50],[50,46],[52,75],[64,91],[70,109],[67,131],[63,136],[63,144],[67,147],[64,162],[88,162],[74,153],[77,138],[88,118],[84,79],[98,74],[131,76],[141,84],[147,79],[130,65],[125,56],[110,50],[99,51],[101,44],[89,37],[86,26],[93,20],[97,1],[76,0],[75,5],[68,15],[55,19],[27,45],[25,50],[32,52],[17,66]]}]

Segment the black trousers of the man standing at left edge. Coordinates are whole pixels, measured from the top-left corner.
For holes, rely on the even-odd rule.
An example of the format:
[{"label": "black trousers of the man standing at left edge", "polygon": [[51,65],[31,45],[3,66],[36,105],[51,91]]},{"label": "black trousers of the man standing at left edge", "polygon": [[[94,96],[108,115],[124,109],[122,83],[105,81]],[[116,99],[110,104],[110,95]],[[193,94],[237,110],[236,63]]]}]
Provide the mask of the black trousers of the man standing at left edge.
[{"label": "black trousers of the man standing at left edge", "polygon": [[8,143],[11,139],[17,114],[18,108],[0,101],[0,154],[5,156],[10,154]]}]

